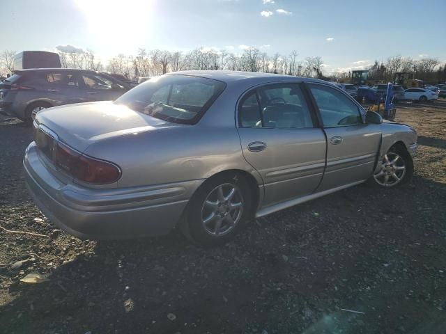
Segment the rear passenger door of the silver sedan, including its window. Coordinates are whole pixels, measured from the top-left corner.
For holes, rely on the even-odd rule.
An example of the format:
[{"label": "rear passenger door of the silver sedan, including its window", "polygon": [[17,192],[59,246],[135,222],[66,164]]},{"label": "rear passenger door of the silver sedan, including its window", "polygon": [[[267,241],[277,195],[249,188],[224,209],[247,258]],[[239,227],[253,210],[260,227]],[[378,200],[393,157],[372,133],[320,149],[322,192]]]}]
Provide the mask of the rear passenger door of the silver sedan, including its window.
[{"label": "rear passenger door of the silver sedan, including its window", "polygon": [[263,206],[312,193],[322,180],[326,141],[298,83],[261,86],[238,104],[243,155],[263,178]]}]

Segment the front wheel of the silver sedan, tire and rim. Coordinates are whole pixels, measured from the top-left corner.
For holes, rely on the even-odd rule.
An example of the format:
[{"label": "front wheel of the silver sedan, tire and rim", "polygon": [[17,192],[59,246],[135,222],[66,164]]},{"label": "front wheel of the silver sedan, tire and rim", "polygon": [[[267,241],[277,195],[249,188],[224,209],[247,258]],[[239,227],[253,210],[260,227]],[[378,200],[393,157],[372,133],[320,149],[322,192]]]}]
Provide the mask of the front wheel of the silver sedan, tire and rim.
[{"label": "front wheel of the silver sedan, tire and rim", "polygon": [[384,154],[374,181],[387,188],[410,182],[413,176],[413,160],[406,150],[391,148]]}]

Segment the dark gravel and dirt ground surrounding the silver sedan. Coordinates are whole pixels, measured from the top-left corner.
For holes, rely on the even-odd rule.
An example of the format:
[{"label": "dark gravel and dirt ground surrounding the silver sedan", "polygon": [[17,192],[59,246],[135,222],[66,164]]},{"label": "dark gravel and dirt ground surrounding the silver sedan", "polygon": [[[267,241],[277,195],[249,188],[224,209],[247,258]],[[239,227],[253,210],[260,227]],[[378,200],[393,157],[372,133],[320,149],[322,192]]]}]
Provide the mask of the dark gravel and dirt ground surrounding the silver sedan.
[{"label": "dark gravel and dirt ground surrounding the silver sedan", "polygon": [[[401,104],[397,120],[419,135],[410,185],[355,186],[201,249],[176,231],[55,230],[24,186],[31,129],[3,119],[0,225],[49,237],[0,230],[0,333],[446,333],[446,100]],[[49,281],[20,282],[32,272]]]}]

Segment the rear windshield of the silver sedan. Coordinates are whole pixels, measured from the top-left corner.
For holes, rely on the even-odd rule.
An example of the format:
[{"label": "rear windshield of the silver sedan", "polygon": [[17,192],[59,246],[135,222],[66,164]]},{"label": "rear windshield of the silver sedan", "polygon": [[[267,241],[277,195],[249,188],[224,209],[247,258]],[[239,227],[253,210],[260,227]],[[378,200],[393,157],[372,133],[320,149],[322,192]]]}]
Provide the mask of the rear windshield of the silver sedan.
[{"label": "rear windshield of the silver sedan", "polygon": [[213,79],[167,74],[145,81],[115,103],[168,122],[195,124],[225,87]]}]

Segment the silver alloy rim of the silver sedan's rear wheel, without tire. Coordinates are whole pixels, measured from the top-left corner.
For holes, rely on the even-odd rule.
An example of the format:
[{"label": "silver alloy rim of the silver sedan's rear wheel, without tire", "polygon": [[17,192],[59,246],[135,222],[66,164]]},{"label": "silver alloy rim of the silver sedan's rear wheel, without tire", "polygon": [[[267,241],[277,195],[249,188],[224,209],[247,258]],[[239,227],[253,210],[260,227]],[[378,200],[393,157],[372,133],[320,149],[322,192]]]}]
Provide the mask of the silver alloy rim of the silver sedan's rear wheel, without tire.
[{"label": "silver alloy rim of the silver sedan's rear wheel, without tire", "polygon": [[240,222],[243,214],[243,196],[235,184],[215,187],[203,202],[201,223],[213,236],[228,234]]}]

